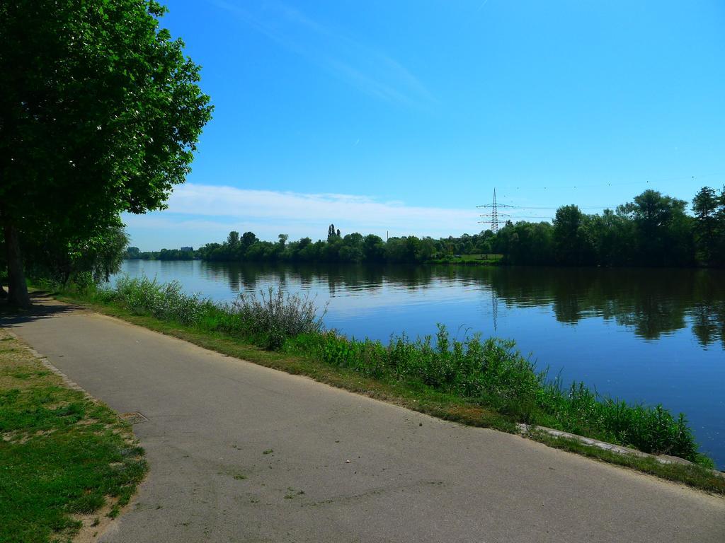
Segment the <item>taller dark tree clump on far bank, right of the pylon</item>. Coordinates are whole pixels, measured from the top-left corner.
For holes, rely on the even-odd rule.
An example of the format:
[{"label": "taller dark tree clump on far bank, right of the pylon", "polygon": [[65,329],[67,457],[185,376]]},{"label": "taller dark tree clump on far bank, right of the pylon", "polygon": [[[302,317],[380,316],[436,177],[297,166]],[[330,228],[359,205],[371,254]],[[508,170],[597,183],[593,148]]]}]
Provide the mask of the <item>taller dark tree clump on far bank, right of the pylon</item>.
[{"label": "taller dark tree clump on far bank, right of the pylon", "polygon": [[686,211],[686,201],[645,190],[602,214],[563,206],[553,224],[507,223],[494,247],[509,264],[724,266],[725,189],[700,189]]}]

